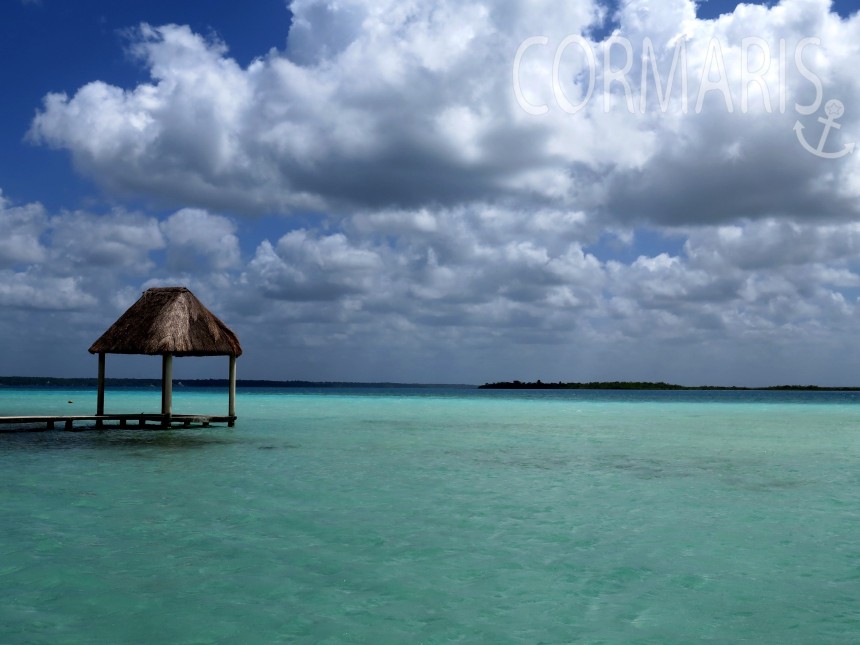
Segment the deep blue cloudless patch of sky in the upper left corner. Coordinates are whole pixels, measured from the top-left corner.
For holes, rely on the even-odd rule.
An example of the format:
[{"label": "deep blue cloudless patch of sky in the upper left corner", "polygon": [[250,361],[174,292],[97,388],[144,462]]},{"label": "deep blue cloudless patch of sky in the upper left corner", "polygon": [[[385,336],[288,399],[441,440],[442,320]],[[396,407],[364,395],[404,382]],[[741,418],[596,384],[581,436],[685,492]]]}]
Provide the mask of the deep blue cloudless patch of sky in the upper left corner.
[{"label": "deep blue cloudless patch of sky in the upper left corner", "polygon": [[[74,92],[92,80],[123,87],[145,81],[148,71],[124,52],[127,32],[142,22],[187,24],[202,34],[217,34],[229,43],[230,55],[242,65],[271,48],[283,48],[290,14],[281,0],[262,0],[240,6],[212,2],[110,2],[74,3],[12,1],[0,8],[0,53],[7,64],[0,70],[5,87],[14,87],[4,100],[4,150],[0,172],[7,193],[41,200],[54,207],[69,207],[69,199],[91,196],[92,189],[69,168],[68,160],[22,142],[33,114],[48,92]],[[23,163],[22,163],[23,162]],[[45,190],[34,172],[50,166],[52,181],[60,189]],[[11,182],[15,182],[14,186]]]}]

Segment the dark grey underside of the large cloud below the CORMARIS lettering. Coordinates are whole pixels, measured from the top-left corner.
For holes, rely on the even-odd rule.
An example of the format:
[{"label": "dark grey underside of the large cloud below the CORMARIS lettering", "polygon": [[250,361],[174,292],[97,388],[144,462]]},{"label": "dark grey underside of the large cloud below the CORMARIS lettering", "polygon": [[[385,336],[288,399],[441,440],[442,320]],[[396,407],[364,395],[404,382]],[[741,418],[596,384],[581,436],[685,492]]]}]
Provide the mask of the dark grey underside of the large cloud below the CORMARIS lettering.
[{"label": "dark grey underside of the large cloud below the CORMARIS lettering", "polygon": [[809,154],[792,129],[796,119],[699,115],[694,132],[661,141],[646,166],[612,173],[601,210],[621,221],[667,226],[857,219],[860,201],[844,190],[853,158]]}]

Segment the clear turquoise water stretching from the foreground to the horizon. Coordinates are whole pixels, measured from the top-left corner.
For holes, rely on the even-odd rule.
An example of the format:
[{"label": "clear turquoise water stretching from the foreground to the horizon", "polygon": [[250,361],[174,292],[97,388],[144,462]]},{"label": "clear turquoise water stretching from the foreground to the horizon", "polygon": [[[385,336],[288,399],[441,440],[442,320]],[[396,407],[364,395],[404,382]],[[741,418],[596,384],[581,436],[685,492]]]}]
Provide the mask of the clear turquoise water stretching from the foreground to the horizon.
[{"label": "clear turquoise water stretching from the foreground to the horizon", "polygon": [[[0,415],[94,407],[0,391]],[[238,412],[0,434],[0,643],[860,641],[856,394],[244,391]]]}]

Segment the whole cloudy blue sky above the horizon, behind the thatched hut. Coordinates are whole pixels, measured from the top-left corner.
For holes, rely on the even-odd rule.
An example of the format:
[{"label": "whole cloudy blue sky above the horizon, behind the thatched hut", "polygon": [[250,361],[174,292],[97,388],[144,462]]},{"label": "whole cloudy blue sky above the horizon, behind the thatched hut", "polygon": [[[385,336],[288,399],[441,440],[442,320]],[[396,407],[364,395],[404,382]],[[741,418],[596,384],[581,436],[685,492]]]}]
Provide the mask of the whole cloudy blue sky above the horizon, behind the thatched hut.
[{"label": "whole cloudy blue sky above the horizon, behind the thatched hut", "polygon": [[[249,378],[857,384],[857,162],[794,129],[815,148],[814,76],[827,150],[858,134],[852,4],[6,2],[0,371],[88,375],[142,289],[187,284]],[[625,110],[598,66],[565,112],[553,48],[613,30],[634,92],[643,39],[665,82],[683,35],[693,104],[716,43],[737,109]],[[515,78],[544,116],[511,80],[538,35]],[[784,113],[740,109],[750,36],[820,39],[768,77]]]}]

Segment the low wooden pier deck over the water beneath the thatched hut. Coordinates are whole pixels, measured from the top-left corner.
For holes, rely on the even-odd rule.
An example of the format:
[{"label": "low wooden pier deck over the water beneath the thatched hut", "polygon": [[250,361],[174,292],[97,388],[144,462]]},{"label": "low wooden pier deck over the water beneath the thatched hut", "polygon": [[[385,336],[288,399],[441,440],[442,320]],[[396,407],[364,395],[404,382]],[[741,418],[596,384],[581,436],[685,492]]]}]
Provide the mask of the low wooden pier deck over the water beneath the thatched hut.
[{"label": "low wooden pier deck over the water beneath the thatched hut", "polygon": [[[39,432],[55,430],[105,430],[107,428],[138,428],[168,430],[171,428],[208,428],[213,423],[232,427],[235,416],[211,414],[94,414],[0,417],[0,432]],[[76,425],[77,424],[77,425]]]}]

